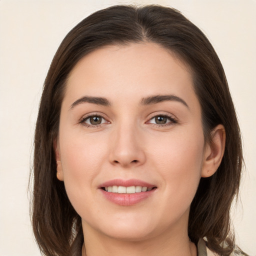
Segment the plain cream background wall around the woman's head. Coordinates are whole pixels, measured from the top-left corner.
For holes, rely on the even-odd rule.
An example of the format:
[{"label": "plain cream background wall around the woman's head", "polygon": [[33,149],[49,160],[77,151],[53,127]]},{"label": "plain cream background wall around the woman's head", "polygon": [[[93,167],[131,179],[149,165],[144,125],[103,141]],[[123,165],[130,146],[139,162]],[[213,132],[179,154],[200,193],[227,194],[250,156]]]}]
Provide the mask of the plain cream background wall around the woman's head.
[{"label": "plain cream background wall around the woman's head", "polygon": [[38,102],[51,59],[82,18],[120,3],[179,9],[202,29],[219,55],[246,163],[240,199],[232,210],[236,240],[255,256],[256,0],[0,0],[0,256],[40,255],[30,226],[27,186]]}]

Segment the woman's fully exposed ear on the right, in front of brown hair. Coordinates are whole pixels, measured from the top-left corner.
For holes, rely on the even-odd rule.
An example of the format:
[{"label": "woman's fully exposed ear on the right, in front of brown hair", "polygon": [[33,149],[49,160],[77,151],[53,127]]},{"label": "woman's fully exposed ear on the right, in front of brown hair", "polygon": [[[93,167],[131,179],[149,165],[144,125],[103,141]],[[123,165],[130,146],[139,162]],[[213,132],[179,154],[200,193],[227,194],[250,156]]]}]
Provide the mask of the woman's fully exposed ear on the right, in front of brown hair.
[{"label": "woman's fully exposed ear on the right, in front of brown hair", "polygon": [[225,128],[218,124],[211,131],[211,140],[204,148],[201,177],[209,177],[217,170],[224,154],[225,139]]}]

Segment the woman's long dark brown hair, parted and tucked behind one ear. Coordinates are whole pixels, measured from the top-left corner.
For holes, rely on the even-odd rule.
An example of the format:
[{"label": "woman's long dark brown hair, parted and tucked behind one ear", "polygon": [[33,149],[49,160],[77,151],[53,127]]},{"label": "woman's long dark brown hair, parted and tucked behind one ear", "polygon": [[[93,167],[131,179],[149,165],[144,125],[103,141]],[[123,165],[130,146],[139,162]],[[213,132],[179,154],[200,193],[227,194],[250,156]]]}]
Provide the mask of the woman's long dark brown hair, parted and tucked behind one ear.
[{"label": "woman's long dark brown hair, parted and tucked behind one ear", "polygon": [[242,151],[234,106],[217,54],[205,35],[173,8],[117,5],[91,14],[65,36],[44,82],[34,138],[32,225],[46,255],[80,255],[83,242],[81,219],[63,182],[56,178],[53,150],[68,74],[79,59],[101,46],[142,41],[161,44],[190,66],[205,140],[210,141],[210,131],[217,124],[225,128],[221,164],[211,177],[199,182],[190,207],[188,235],[195,243],[206,237],[207,246],[218,254],[229,255],[233,250],[229,209],[238,192]]}]

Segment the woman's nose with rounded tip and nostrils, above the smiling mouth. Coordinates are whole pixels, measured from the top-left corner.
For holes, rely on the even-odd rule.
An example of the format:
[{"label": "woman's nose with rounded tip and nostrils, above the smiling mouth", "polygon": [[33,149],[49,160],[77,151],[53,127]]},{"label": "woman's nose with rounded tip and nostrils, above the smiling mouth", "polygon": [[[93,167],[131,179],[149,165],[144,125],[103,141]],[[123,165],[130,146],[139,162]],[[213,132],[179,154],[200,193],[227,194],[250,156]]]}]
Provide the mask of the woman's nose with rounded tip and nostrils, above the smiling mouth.
[{"label": "woman's nose with rounded tip and nostrils, above the smiling mouth", "polygon": [[135,167],[145,162],[142,134],[133,126],[123,125],[113,130],[109,161],[113,165]]}]

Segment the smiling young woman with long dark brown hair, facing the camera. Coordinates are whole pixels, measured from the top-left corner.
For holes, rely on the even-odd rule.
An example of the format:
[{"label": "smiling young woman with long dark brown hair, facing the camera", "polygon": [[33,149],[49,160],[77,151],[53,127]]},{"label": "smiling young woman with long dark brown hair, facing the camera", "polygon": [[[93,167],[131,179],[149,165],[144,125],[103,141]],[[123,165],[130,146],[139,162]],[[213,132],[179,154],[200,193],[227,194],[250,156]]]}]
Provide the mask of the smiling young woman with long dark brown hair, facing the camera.
[{"label": "smiling young woman with long dark brown hair, facing the camera", "polygon": [[177,10],[113,6],[66,35],[35,131],[43,253],[242,253],[229,222],[241,167],[221,63]]}]

